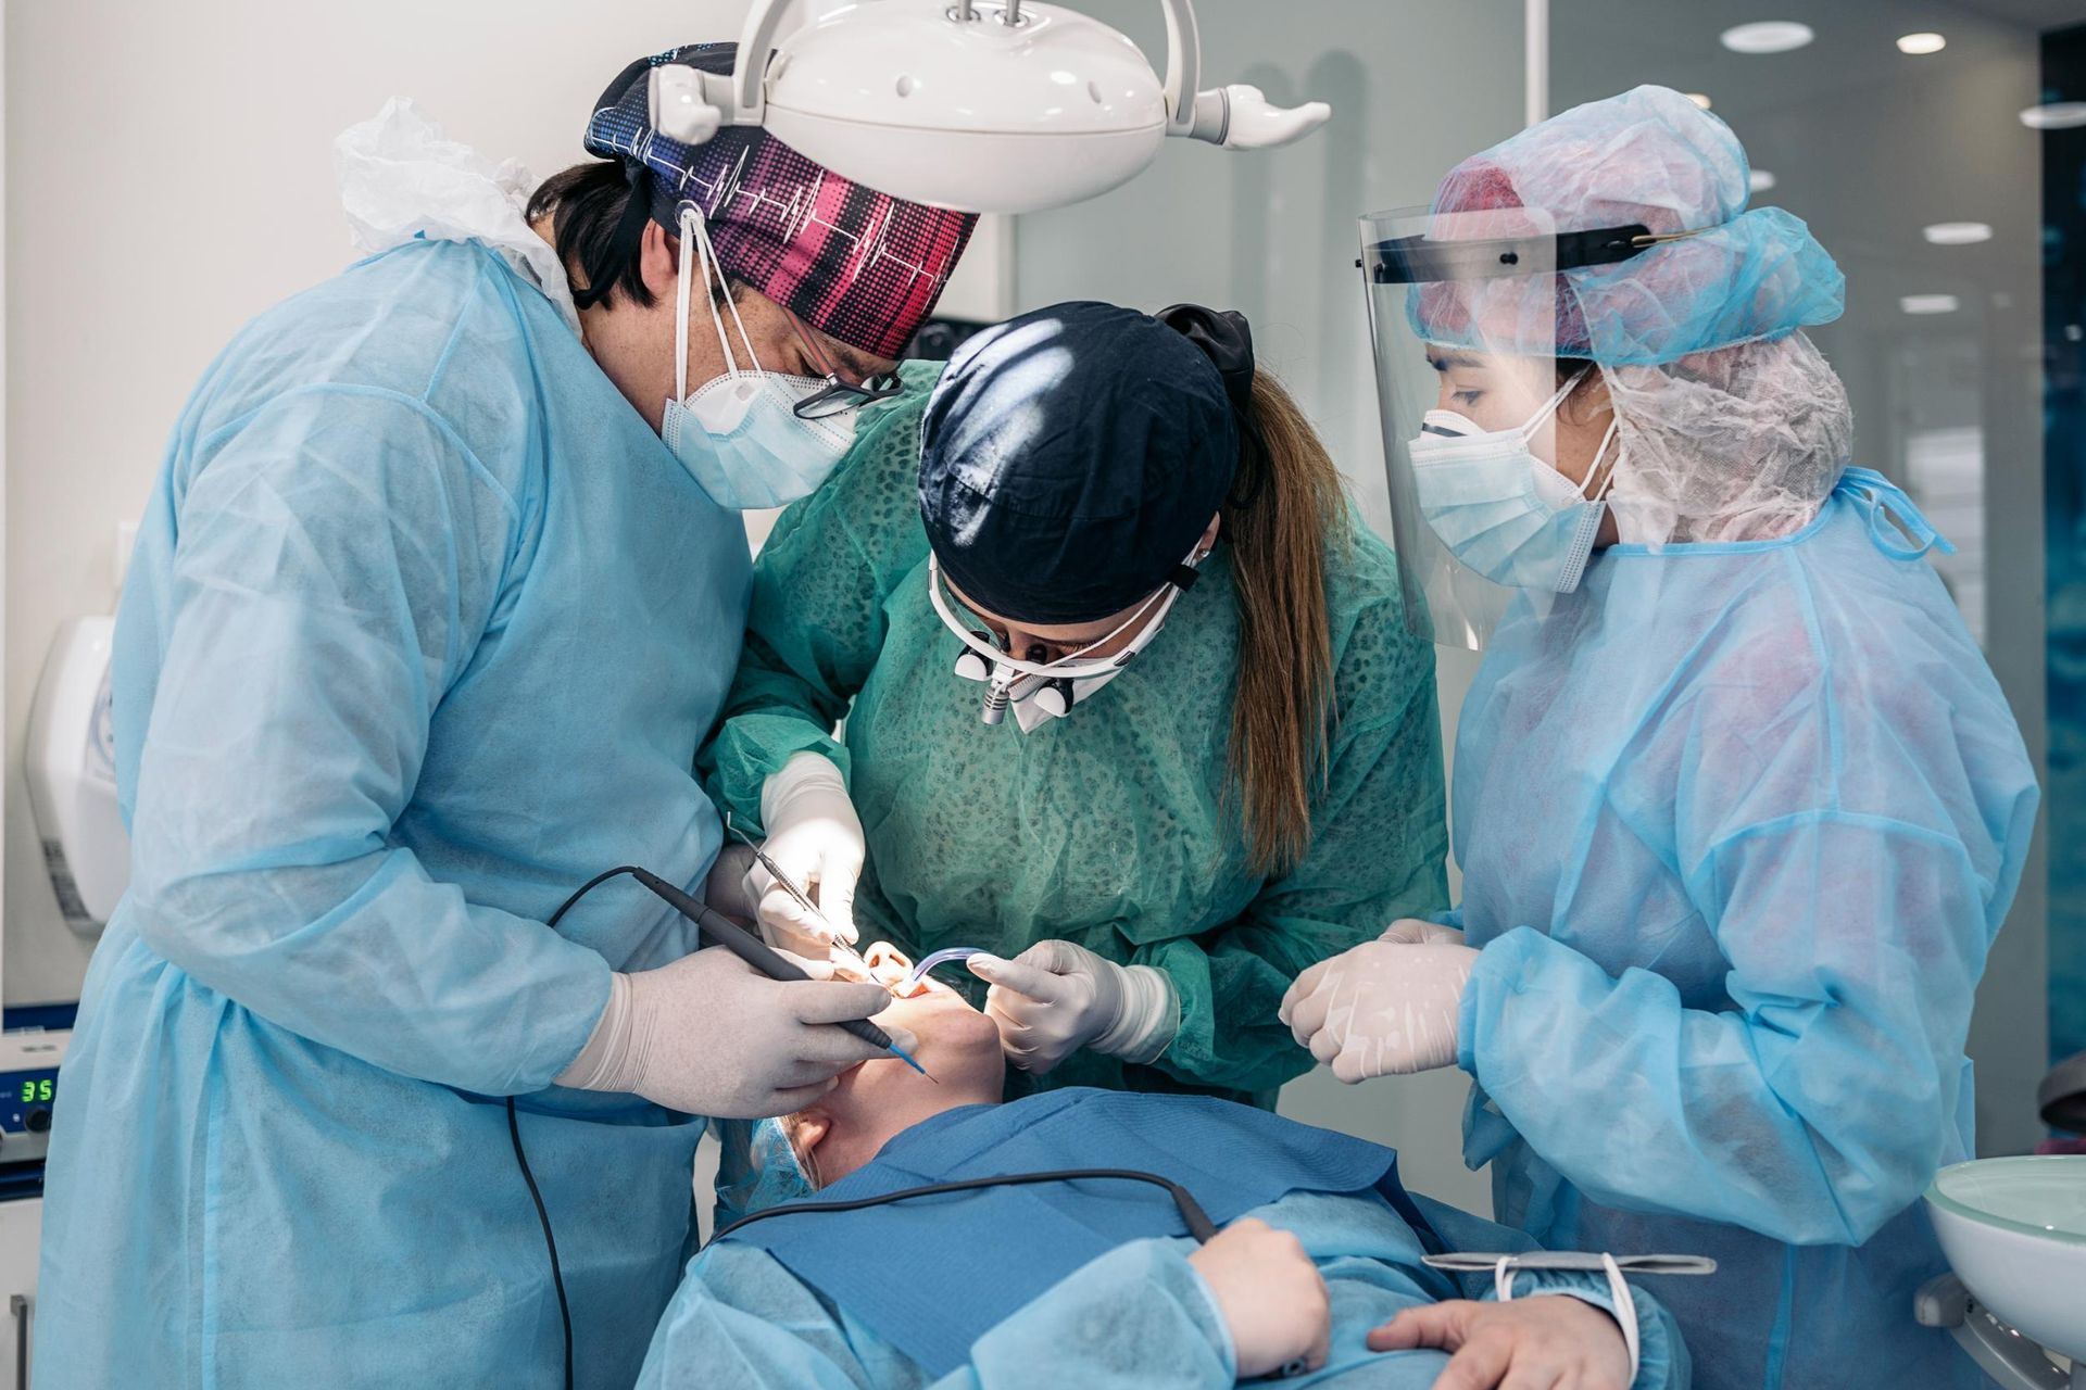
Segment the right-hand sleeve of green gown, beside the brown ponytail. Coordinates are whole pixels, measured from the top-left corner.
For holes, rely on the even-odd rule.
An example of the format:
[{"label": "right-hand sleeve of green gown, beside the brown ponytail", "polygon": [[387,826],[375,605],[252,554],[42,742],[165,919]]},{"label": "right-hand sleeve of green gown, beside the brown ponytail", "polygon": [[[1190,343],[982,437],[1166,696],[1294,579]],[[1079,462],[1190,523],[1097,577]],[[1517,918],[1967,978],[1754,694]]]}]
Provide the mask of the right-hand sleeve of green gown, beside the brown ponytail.
[{"label": "right-hand sleeve of green gown, beside the brown ponytail", "polygon": [[1356,621],[1310,848],[1235,921],[1137,948],[1181,994],[1156,1067],[1197,1086],[1270,1092],[1312,1067],[1277,1011],[1308,967],[1448,904],[1448,819],[1433,648],[1393,606]]}]

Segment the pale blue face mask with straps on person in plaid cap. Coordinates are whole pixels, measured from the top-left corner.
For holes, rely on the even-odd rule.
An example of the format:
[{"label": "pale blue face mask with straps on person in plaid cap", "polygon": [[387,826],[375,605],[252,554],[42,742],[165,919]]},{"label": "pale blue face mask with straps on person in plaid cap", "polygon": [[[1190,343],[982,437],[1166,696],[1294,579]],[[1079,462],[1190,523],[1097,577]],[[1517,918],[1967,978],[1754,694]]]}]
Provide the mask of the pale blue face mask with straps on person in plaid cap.
[{"label": "pale blue face mask with straps on person in plaid cap", "polygon": [[[701,260],[701,283],[688,283],[690,258]],[[749,367],[741,367],[724,336],[718,296],[711,277],[724,290],[722,300],[738,327]],[[682,208],[680,217],[680,304],[674,313],[674,396],[659,417],[659,438],[680,458],[680,465],[703,486],[718,506],[755,511],[782,506],[818,492],[847,456],[855,442],[855,411],[824,413],[803,419],[797,402],[824,390],[816,377],[793,377],[761,371],[753,356],[747,325],[738,323],[724,269],[709,248],[709,231],[699,210]],[[701,294],[724,348],[726,373],[688,394],[688,298]]]}]

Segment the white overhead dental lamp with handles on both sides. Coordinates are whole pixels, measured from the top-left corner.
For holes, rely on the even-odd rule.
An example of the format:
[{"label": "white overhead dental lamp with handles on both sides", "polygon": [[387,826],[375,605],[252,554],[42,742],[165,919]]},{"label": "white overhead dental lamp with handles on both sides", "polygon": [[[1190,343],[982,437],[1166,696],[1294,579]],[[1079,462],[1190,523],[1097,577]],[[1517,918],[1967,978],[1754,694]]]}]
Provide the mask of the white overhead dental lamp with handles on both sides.
[{"label": "white overhead dental lamp with handles on both sides", "polygon": [[897,198],[1033,213],[1124,183],[1168,135],[1258,150],[1331,115],[1243,83],[1202,90],[1193,0],[1160,10],[1164,77],[1116,29],[1043,0],[880,0],[809,23],[755,0],[728,77],[651,69],[651,125],[680,144],[759,125]]}]

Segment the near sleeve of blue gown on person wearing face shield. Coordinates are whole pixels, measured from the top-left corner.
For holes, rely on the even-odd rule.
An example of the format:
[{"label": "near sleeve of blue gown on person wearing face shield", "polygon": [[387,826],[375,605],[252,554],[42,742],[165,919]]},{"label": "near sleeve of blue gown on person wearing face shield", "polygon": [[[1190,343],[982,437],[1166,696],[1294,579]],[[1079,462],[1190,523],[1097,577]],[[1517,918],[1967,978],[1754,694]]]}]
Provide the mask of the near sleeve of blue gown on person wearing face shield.
[{"label": "near sleeve of blue gown on person wearing face shield", "polygon": [[1719,838],[1688,892],[1729,1011],[1517,927],[1471,973],[1460,1063],[1596,1202],[1861,1244],[1942,1161],[1992,884],[1952,836],[1806,811]]}]

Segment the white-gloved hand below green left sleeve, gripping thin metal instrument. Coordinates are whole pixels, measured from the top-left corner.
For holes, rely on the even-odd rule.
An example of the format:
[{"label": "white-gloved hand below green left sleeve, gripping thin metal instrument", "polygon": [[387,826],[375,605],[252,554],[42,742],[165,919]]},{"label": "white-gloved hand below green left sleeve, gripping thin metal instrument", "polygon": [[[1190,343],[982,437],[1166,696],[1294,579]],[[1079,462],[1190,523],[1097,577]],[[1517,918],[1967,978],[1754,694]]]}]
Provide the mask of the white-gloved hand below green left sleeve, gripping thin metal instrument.
[{"label": "white-gloved hand below green left sleeve, gripping thin metal instrument", "polygon": [[[782,771],[761,784],[761,825],[768,827],[761,844],[768,859],[811,894],[820,917],[853,946],[855,879],[862,877],[866,848],[841,769],[816,752],[791,754]],[[759,863],[747,871],[747,892],[761,904],[761,936],[770,946],[826,959],[832,934]]]}]

